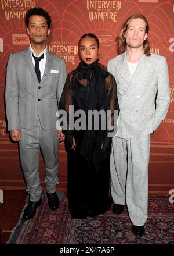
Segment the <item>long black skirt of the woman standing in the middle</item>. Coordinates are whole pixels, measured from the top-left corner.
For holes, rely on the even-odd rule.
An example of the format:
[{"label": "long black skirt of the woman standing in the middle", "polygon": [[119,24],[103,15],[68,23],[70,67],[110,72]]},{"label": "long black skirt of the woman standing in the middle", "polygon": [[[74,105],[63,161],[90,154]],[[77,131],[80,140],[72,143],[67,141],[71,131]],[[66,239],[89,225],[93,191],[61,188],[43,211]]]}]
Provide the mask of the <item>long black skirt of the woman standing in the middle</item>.
[{"label": "long black skirt of the woman standing in the middle", "polygon": [[68,206],[72,218],[95,217],[110,209],[110,155],[96,172],[78,150],[68,152]]}]

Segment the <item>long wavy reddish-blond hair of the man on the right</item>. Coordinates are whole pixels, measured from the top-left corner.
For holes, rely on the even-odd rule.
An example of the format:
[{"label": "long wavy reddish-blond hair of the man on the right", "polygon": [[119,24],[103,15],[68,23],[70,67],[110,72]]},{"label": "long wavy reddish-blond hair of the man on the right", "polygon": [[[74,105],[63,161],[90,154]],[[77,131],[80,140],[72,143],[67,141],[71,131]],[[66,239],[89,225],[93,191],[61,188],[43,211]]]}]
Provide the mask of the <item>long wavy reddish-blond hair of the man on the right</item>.
[{"label": "long wavy reddish-blond hair of the man on the right", "polygon": [[[122,26],[122,29],[118,35],[118,37],[116,38],[116,41],[117,41],[117,46],[118,46],[118,54],[123,54],[125,51],[126,51],[126,39],[124,37],[127,29],[128,29],[128,25],[129,23],[131,22],[131,20],[133,19],[142,19],[144,20],[144,22],[146,23],[146,30],[145,30],[145,33],[148,34],[148,30],[149,30],[149,25],[148,25],[148,22],[147,22],[147,19],[144,15],[142,14],[135,14],[135,15],[132,15],[131,17],[129,17],[124,25]],[[147,38],[146,40],[144,40],[143,42],[143,49],[144,49],[144,54],[146,56],[150,56],[150,43],[148,42]]]}]

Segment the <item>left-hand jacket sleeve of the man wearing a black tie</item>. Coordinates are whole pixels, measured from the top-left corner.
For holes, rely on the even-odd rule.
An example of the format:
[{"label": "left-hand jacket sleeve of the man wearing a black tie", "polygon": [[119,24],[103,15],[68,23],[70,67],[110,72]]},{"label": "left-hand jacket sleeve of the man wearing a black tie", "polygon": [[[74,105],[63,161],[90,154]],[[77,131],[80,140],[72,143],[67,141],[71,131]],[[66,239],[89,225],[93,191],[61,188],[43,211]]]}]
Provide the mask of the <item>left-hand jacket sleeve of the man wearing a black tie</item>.
[{"label": "left-hand jacket sleeve of the man wearing a black tie", "polygon": [[19,84],[17,81],[16,68],[14,64],[13,54],[10,54],[7,73],[6,73],[6,88],[5,88],[5,102],[6,102],[6,116],[8,119],[8,130],[18,130],[19,115],[18,115],[18,97]]}]

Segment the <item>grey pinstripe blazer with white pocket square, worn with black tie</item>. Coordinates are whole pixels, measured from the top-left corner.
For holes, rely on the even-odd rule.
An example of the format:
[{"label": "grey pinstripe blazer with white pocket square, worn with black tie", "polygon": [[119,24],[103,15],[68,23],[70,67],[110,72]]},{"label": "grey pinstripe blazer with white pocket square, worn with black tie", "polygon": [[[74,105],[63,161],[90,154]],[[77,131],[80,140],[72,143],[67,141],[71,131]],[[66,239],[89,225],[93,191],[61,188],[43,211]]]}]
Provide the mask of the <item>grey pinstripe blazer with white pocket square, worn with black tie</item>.
[{"label": "grey pinstripe blazer with white pocket square, worn with black tie", "polygon": [[30,48],[10,54],[5,90],[8,130],[33,129],[38,116],[44,130],[55,129],[66,77],[64,59],[48,51],[41,83],[34,70]]}]

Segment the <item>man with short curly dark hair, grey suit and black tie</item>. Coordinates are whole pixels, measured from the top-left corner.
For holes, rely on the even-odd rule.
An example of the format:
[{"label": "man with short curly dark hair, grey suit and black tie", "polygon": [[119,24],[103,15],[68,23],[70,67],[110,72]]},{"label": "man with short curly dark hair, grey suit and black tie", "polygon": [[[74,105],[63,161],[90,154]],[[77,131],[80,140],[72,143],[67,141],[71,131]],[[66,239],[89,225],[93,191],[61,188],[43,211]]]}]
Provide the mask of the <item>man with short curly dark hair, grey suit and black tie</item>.
[{"label": "man with short curly dark hair, grey suit and black tie", "polygon": [[6,115],[12,140],[19,141],[21,166],[30,195],[23,219],[31,219],[42,203],[39,179],[39,151],[45,162],[45,184],[49,208],[59,207],[56,194],[58,140],[63,137],[56,130],[58,102],[66,81],[64,59],[50,54],[46,38],[50,34],[51,19],[42,8],[26,13],[28,49],[10,54],[6,76]]}]

